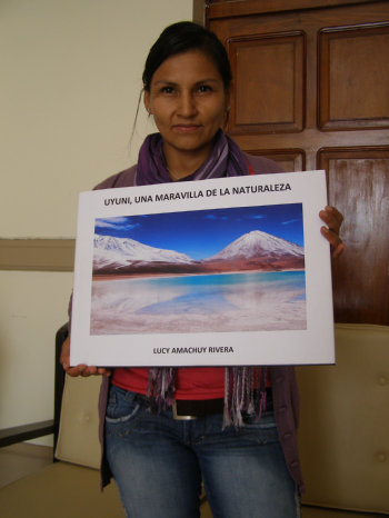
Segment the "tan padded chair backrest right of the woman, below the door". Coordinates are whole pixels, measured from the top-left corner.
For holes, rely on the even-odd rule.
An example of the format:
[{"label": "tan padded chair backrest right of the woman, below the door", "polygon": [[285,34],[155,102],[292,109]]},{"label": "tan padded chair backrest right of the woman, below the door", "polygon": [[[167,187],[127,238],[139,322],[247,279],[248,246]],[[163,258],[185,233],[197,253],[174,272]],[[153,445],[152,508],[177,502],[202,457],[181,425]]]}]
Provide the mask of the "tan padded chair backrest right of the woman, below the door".
[{"label": "tan padded chair backrest right of the woman, below the door", "polygon": [[337,325],[336,358],[297,369],[303,502],[389,512],[389,327]]}]

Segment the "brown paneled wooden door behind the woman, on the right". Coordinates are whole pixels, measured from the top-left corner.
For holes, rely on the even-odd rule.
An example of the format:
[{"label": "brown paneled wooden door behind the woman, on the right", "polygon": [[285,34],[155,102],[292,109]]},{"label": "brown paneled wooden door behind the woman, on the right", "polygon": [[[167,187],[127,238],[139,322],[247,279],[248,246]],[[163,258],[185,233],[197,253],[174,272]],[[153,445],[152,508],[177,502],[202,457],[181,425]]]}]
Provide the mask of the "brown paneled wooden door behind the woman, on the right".
[{"label": "brown paneled wooden door behind the woman, on the right", "polygon": [[229,132],[285,170],[326,169],[345,215],[335,318],[389,325],[389,1],[208,2],[235,76]]}]

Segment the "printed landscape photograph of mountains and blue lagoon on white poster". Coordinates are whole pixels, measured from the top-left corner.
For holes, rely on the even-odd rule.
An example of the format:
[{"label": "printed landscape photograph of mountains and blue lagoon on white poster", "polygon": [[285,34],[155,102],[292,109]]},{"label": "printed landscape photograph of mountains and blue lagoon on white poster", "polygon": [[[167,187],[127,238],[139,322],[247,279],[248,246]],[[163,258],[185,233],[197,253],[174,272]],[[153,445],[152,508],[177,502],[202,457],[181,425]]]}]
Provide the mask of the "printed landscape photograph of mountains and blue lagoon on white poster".
[{"label": "printed landscape photograph of mountains and blue lagoon on white poster", "polygon": [[90,335],[306,328],[302,203],[96,219]]}]

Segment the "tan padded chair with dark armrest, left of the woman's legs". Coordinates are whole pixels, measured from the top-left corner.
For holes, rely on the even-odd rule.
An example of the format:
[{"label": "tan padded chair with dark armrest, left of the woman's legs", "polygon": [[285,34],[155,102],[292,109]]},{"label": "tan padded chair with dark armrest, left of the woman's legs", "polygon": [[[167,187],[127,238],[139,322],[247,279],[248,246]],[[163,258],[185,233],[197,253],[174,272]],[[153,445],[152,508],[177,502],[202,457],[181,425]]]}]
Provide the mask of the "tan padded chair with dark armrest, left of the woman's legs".
[{"label": "tan padded chair with dark armrest, left of the woman's legs", "polygon": [[[3,430],[0,446],[54,432],[54,461],[38,474],[0,488],[1,518],[123,518],[112,482],[100,491],[98,397],[100,377],[71,378],[59,365],[67,326],[56,336],[54,419]],[[2,440],[2,442],[1,442]],[[201,518],[211,518],[206,504]]]}]

